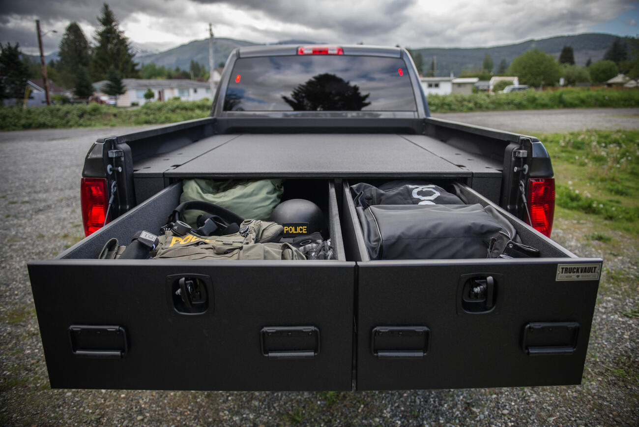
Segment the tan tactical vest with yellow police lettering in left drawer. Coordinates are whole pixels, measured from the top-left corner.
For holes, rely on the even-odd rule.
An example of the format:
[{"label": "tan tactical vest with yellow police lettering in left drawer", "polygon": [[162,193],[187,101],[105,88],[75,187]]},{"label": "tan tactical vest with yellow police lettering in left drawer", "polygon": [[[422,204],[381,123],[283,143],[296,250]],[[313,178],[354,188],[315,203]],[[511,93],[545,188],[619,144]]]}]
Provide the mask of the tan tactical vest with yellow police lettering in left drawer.
[{"label": "tan tactical vest with yellow police lettering in left drawer", "polygon": [[154,259],[171,260],[305,260],[302,252],[279,241],[284,228],[275,222],[247,219],[231,235],[202,237],[194,233],[178,236],[167,229],[151,251]]}]

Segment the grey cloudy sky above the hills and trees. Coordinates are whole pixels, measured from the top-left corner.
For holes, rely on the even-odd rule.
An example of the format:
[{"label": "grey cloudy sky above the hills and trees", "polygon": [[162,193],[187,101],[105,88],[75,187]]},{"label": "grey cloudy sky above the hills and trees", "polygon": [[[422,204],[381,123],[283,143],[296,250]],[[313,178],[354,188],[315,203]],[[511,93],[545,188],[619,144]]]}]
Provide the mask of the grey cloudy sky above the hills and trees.
[{"label": "grey cloudy sky above the hills and trees", "polygon": [[[104,0],[0,0],[0,42],[45,53],[77,22],[89,41]],[[477,47],[599,32],[639,35],[637,0],[107,0],[136,49],[166,50],[215,36],[273,43]],[[54,33],[52,30],[58,31]]]}]

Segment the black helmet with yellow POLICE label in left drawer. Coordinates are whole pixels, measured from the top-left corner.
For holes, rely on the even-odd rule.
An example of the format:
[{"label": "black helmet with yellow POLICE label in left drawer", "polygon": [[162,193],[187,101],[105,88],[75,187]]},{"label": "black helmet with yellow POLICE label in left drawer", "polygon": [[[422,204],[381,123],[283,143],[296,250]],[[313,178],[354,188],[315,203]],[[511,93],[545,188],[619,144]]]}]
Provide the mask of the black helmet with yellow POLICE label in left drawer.
[{"label": "black helmet with yellow POLICE label in left drawer", "polygon": [[275,206],[271,221],[284,226],[284,237],[325,231],[324,214],[318,205],[306,199],[290,199]]}]

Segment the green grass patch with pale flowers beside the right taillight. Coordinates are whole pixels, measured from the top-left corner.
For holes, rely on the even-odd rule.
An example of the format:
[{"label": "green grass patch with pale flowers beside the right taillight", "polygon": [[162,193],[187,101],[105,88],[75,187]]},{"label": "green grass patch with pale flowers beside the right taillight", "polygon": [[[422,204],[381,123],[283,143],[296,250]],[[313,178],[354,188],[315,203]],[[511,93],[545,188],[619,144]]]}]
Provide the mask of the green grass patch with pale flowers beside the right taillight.
[{"label": "green grass patch with pale flowers beside the right taillight", "polygon": [[[555,169],[557,206],[639,237],[639,132],[539,135]],[[590,240],[608,242],[592,235]]]}]

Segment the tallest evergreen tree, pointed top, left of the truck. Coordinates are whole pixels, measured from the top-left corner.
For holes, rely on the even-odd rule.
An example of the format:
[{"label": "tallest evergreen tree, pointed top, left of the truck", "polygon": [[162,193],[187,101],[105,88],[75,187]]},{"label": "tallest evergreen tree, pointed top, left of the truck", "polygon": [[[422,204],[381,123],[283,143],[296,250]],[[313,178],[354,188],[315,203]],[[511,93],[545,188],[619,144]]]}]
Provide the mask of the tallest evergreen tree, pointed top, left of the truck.
[{"label": "tallest evergreen tree, pointed top, left of the truck", "polygon": [[102,15],[98,17],[100,29],[95,33],[96,46],[91,58],[93,81],[103,80],[109,67],[113,67],[122,77],[137,77],[137,63],[134,63],[128,38],[119,29],[118,21],[109,5],[104,3]]}]

